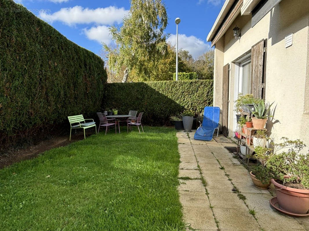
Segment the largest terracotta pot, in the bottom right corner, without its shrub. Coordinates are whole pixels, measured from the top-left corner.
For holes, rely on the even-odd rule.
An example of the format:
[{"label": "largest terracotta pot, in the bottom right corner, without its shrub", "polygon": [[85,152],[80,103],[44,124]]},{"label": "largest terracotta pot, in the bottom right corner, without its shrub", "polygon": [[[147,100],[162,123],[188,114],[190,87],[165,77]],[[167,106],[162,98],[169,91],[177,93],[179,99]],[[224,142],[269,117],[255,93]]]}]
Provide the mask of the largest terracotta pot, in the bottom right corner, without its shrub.
[{"label": "largest terracotta pot, in the bottom right corner, without its shrub", "polygon": [[294,214],[306,214],[309,210],[309,189],[291,188],[271,179],[276,189],[280,209]]}]

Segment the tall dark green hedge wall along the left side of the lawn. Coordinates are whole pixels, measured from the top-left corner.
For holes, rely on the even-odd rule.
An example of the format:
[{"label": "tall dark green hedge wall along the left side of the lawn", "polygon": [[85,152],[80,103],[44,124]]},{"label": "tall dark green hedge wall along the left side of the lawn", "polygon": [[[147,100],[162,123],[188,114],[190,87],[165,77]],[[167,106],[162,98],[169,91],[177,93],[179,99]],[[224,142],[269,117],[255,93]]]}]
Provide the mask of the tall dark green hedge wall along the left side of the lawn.
[{"label": "tall dark green hedge wall along the left side of the lawn", "polygon": [[[12,10],[13,9],[13,10]],[[11,0],[0,0],[0,144],[95,113],[104,62]]]}]

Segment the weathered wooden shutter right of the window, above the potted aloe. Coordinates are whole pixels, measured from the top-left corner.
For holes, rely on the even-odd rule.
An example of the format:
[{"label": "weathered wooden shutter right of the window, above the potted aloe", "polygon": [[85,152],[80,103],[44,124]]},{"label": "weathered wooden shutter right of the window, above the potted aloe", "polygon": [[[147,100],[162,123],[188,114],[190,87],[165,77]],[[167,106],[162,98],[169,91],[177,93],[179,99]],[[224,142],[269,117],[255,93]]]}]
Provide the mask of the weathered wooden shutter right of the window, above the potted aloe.
[{"label": "weathered wooden shutter right of the window, above the potted aloe", "polygon": [[251,48],[251,90],[255,98],[265,98],[266,39]]}]

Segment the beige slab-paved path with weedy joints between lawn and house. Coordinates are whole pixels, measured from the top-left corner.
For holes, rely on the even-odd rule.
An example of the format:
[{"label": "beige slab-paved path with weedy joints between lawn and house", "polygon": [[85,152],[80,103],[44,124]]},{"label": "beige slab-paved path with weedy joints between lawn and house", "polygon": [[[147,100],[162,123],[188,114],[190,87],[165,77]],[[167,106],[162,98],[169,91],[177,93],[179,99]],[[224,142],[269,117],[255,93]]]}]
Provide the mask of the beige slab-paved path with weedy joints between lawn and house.
[{"label": "beige slab-paved path with weedy joints between lawn and house", "polygon": [[[194,132],[188,134],[189,137],[184,132],[177,132],[181,161],[180,201],[184,220],[191,224],[191,229],[309,230],[308,217],[289,217],[270,206],[271,190],[256,188],[248,170],[224,148],[235,144],[194,140]],[[238,191],[232,191],[236,188]],[[253,209],[254,216],[250,214]]]}]

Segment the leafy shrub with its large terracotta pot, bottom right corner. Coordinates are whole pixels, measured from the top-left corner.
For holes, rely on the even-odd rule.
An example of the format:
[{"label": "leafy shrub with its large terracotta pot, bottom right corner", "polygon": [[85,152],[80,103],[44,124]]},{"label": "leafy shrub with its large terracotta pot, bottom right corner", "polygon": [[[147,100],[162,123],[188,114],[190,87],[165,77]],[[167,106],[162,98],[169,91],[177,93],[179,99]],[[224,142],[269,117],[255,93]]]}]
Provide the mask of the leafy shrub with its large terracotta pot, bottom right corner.
[{"label": "leafy shrub with its large terracotta pot, bottom right corner", "polygon": [[[275,155],[266,166],[273,174],[271,182],[276,189],[276,200],[281,210],[291,216],[307,216],[309,211],[309,152],[300,153],[306,145],[300,140],[289,140],[274,145]],[[276,149],[287,151],[277,153]],[[276,208],[272,199],[270,204]]]}]

